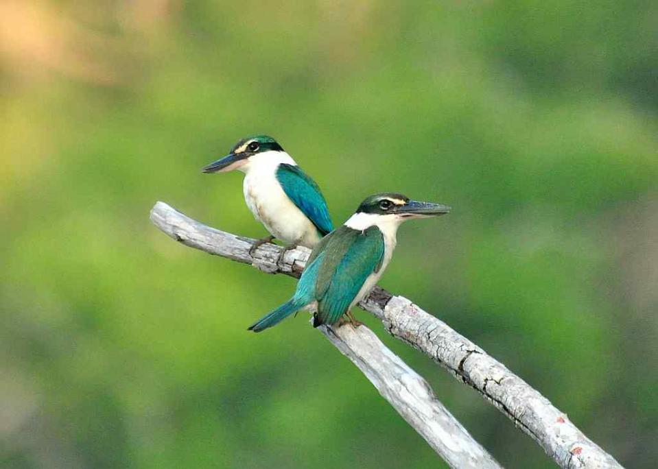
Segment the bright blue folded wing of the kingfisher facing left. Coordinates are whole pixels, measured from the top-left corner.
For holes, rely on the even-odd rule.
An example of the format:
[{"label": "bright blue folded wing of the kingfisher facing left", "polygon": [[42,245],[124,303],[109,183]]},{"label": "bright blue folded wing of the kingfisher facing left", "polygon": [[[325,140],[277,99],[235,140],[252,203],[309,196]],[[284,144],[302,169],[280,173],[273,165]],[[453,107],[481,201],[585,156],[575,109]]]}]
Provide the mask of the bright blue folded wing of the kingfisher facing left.
[{"label": "bright blue folded wing of the kingfisher facing left", "polygon": [[322,236],[333,230],[325,197],[322,197],[318,184],[298,166],[282,163],[277,168],[277,180],[285,195],[318,228]]}]

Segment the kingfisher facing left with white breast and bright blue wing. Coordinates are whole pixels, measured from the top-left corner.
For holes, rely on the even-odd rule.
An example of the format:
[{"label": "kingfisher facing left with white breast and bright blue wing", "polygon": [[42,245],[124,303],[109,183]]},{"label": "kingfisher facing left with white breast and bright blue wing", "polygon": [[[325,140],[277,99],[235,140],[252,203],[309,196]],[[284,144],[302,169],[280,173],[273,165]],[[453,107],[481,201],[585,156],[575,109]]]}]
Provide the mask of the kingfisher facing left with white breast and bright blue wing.
[{"label": "kingfisher facing left with white breast and bright blue wing", "polygon": [[267,135],[242,139],[231,152],[202,169],[204,173],[245,173],[244,200],[271,236],[249,250],[277,238],[287,245],[313,248],[333,230],[327,202],[318,184],[297,166],[276,140]]}]

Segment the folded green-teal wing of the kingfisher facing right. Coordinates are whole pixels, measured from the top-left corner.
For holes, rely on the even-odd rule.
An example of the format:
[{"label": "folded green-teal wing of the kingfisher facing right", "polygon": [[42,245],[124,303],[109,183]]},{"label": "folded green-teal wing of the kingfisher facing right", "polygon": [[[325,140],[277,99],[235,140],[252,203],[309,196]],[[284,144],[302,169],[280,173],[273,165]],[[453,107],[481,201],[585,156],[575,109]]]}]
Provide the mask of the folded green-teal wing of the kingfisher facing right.
[{"label": "folded green-teal wing of the kingfisher facing right", "polygon": [[341,231],[344,233],[327,241],[322,253],[315,291],[318,300],[316,326],[334,324],[346,313],[368,276],[377,271],[384,257],[384,236],[376,226],[363,232],[350,228]]}]

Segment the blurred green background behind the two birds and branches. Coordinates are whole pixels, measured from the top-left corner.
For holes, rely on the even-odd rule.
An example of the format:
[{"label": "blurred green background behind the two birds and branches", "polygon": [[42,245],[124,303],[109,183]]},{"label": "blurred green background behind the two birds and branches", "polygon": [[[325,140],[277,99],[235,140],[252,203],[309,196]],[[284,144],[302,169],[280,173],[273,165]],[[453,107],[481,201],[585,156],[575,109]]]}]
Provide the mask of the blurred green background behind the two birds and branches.
[{"label": "blurred green background behind the two birds and branches", "polygon": [[[242,177],[275,136],[336,222],[403,226],[381,285],[539,389],[618,460],[658,460],[658,4],[7,0],[0,8],[0,466],[428,468],[305,317],[294,280],[185,248],[156,200],[265,234]],[[529,437],[386,336],[504,466]]]}]

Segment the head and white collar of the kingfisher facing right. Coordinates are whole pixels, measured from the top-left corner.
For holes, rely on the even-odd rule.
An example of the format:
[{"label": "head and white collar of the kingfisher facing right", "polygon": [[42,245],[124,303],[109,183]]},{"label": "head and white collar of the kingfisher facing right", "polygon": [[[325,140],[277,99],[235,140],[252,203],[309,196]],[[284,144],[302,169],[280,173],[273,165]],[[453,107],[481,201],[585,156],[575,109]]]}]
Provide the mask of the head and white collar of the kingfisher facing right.
[{"label": "head and white collar of the kingfisher facing right", "polygon": [[399,226],[408,219],[436,217],[449,211],[450,207],[447,205],[419,202],[399,193],[382,192],[366,197],[346,225],[355,229],[365,229],[373,225]]}]

